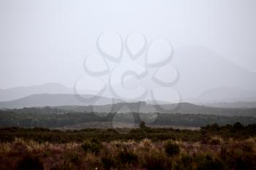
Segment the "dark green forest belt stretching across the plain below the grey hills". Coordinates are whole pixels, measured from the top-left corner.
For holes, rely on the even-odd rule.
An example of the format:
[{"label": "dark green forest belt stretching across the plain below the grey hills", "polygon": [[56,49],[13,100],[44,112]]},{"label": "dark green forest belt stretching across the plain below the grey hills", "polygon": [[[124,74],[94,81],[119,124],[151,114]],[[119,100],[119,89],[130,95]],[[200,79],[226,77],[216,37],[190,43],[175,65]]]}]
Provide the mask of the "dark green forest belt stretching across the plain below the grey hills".
[{"label": "dark green forest belt stretching across the plain below the grey hills", "polygon": [[[34,110],[34,112],[33,112]],[[49,112],[48,112],[49,111]],[[99,116],[104,114],[106,116]],[[140,114],[132,113],[135,118],[135,124],[140,125]],[[143,114],[144,116],[146,115]],[[84,123],[107,123],[108,128],[111,128],[113,117],[121,122],[127,122],[126,114],[116,113],[97,113],[94,112],[61,112],[58,109],[49,109],[48,107],[41,109],[13,109],[0,110],[0,127],[22,127],[22,128],[72,128]],[[151,115],[148,115],[150,118]],[[213,123],[218,125],[233,124],[241,122],[243,125],[256,123],[256,117],[244,116],[221,116],[221,115],[200,115],[200,114],[160,114],[157,113],[156,120],[150,125],[165,125],[165,126],[186,126],[186,127],[201,127]]]}]

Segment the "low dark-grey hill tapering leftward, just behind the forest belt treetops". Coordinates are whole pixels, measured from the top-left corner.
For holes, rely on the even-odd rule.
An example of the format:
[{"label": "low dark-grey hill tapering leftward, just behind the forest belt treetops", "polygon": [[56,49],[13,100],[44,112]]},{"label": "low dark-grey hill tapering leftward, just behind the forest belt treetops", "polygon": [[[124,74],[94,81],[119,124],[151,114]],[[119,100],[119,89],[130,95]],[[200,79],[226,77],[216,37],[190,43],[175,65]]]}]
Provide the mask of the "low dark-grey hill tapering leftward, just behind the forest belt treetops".
[{"label": "low dark-grey hill tapering leftward, just behind the forest belt treetops", "polygon": [[181,114],[203,114],[203,115],[225,115],[225,116],[253,116],[256,117],[256,108],[220,108],[206,107],[196,104],[179,103],[179,104],[160,104],[152,105],[146,102],[134,102],[117,104],[106,104],[96,106],[61,106],[57,109],[75,112],[141,112],[141,113],[181,113]]}]

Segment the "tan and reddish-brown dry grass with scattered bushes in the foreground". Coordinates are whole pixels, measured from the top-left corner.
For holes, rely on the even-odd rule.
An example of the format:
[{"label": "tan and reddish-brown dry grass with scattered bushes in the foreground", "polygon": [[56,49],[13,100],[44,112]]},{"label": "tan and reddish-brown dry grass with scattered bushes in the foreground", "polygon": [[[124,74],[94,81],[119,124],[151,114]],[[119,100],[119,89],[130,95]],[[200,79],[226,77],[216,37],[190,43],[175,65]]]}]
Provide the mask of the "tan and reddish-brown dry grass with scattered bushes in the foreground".
[{"label": "tan and reddish-brown dry grass with scattered bushes in the foreground", "polygon": [[[98,154],[81,143],[52,144],[15,139],[0,143],[0,169],[255,169],[256,138],[213,136],[208,143],[171,141],[180,152],[168,155],[166,142],[103,142]],[[30,166],[29,166],[30,165]]]}]

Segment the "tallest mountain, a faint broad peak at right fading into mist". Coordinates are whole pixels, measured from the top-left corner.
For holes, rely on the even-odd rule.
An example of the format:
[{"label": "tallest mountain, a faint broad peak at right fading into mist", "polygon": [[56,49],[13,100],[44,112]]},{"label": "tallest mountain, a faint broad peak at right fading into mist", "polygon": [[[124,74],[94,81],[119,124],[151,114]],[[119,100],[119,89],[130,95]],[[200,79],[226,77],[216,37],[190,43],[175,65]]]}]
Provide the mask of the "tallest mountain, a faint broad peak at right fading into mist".
[{"label": "tallest mountain, a faint broad peak at right fading into mist", "polygon": [[[222,58],[207,47],[184,46],[174,50],[173,58],[170,63],[167,63],[167,66],[147,69],[147,76],[140,80],[134,78],[127,80],[127,85],[139,85],[156,94],[154,95],[155,98],[148,95],[146,98],[140,98],[140,101],[157,100],[165,101],[165,103],[191,102],[202,104],[256,101],[255,73]],[[173,66],[178,70],[178,73],[176,73],[176,69],[170,69]],[[155,71],[161,72],[155,74]],[[158,76],[158,80],[176,80],[176,84],[172,86],[170,83],[170,86],[167,87],[170,90],[160,90],[160,88],[165,88],[165,83],[164,85],[154,83],[155,81],[152,79],[154,75]],[[118,86],[114,88],[117,89],[116,91],[121,91],[118,90]],[[172,89],[178,91],[181,98],[178,98],[177,93]]]}]

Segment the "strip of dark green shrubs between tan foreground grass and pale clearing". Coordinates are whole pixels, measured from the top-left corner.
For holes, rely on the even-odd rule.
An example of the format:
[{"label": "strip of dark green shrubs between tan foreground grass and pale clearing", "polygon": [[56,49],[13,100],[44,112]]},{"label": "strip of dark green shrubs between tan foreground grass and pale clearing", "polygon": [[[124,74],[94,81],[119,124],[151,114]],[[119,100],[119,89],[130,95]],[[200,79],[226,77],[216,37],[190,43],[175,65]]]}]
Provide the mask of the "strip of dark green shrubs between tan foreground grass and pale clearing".
[{"label": "strip of dark green shrubs between tan foreground grass and pale clearing", "polygon": [[48,128],[0,128],[0,142],[12,142],[15,138],[32,139],[37,142],[84,142],[87,139],[97,139],[99,142],[110,142],[114,140],[129,139],[139,141],[151,139],[153,142],[167,139],[189,141],[189,142],[211,142],[218,143],[213,136],[220,136],[222,139],[246,139],[256,135],[256,124],[219,126],[217,124],[206,125],[200,130],[173,129],[173,128],[133,128],[127,129],[127,133],[118,133],[125,129],[96,129],[86,128],[79,131],[60,131]]}]

